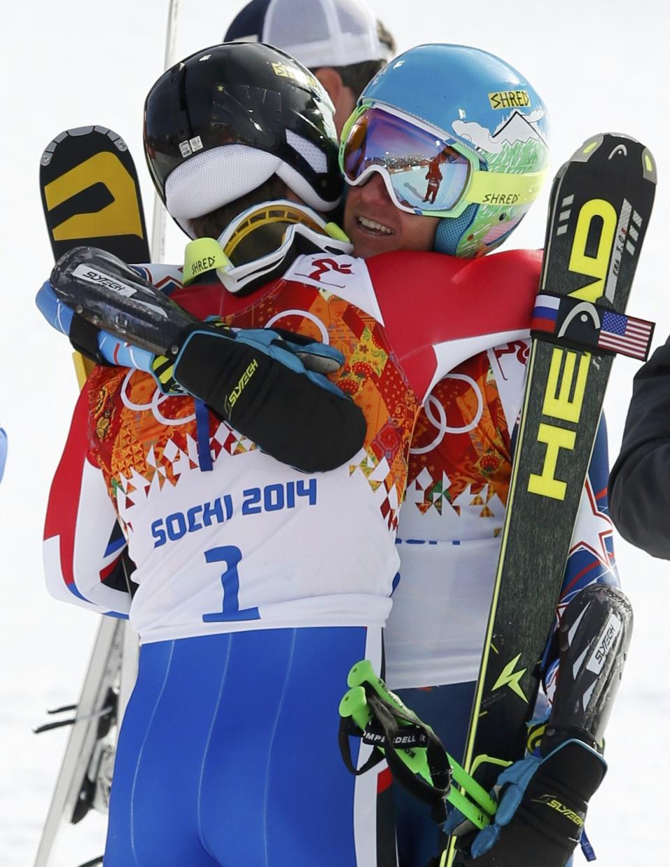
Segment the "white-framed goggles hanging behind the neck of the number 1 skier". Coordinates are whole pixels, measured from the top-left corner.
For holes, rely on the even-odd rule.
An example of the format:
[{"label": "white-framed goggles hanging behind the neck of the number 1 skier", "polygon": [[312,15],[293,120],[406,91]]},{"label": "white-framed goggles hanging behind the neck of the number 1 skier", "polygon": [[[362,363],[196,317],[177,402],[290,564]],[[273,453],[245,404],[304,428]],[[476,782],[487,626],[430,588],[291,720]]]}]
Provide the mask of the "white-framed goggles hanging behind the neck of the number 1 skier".
[{"label": "white-framed goggles hanging behind the neck of the number 1 skier", "polygon": [[198,277],[198,270],[216,269],[227,290],[249,292],[281,277],[301,253],[324,250],[348,253],[351,244],[337,225],[327,223],[308,207],[287,199],[264,202],[232,220],[219,236],[217,250],[209,245],[206,259],[198,252],[204,264],[199,264],[199,258],[193,263],[186,261],[185,281]]}]

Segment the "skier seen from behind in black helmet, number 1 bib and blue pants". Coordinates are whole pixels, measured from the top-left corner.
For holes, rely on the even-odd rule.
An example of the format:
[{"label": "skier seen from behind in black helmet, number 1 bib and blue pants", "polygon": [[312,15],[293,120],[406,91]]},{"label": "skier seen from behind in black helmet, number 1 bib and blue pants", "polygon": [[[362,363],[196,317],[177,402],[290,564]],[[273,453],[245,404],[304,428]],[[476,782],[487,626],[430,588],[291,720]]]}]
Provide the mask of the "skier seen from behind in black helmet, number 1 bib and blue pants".
[{"label": "skier seen from behind in black helmet, number 1 bib and blue pants", "polygon": [[[377,779],[348,777],[333,713],[356,660],[381,666],[420,404],[478,349],[524,335],[540,255],[398,253],[368,265],[334,255],[335,230],[305,205],[274,200],[289,191],[312,207],[336,204],[326,198],[331,110],[306,69],[260,44],[198,52],[147,98],[146,151],[168,211],[195,235],[213,234],[217,221],[227,229],[218,276],[185,286],[180,268],[143,273],[197,316],[288,328],[340,349],[347,363],[331,378],[353,394],[368,432],[345,466],[303,474],[202,401],[161,394],[151,375],[96,368],[89,377],[44,551],[55,596],[129,616],[140,634],[109,867],[395,863]],[[510,187],[532,197],[537,179]],[[189,363],[209,373],[217,359],[196,351]],[[106,583],[117,518],[136,564],[132,600]]]}]

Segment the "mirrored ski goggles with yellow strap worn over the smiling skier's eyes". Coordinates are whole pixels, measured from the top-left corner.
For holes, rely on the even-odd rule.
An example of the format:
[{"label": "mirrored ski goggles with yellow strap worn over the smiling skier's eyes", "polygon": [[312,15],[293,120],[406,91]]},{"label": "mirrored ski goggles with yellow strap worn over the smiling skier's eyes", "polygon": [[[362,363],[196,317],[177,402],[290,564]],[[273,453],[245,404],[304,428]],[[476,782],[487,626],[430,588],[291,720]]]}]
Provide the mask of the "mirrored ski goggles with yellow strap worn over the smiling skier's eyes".
[{"label": "mirrored ski goggles with yellow strap worn over the smiling skier's eyes", "polygon": [[401,211],[459,217],[468,205],[524,205],[546,171],[503,174],[444,133],[390,106],[359,106],[342,130],[340,169],[351,186],[378,172]]}]

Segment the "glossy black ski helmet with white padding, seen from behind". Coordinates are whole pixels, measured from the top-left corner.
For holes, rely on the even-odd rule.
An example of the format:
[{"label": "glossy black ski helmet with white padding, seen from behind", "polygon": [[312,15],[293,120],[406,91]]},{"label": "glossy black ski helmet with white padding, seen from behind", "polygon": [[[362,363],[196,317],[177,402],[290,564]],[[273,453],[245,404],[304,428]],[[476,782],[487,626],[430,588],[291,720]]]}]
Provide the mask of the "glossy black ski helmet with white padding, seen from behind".
[{"label": "glossy black ski helmet with white padding, seen from behind", "polygon": [[224,42],[168,69],[149,91],[146,161],[182,226],[277,174],[318,211],[342,194],[334,108],[309,70],[261,42]]}]

